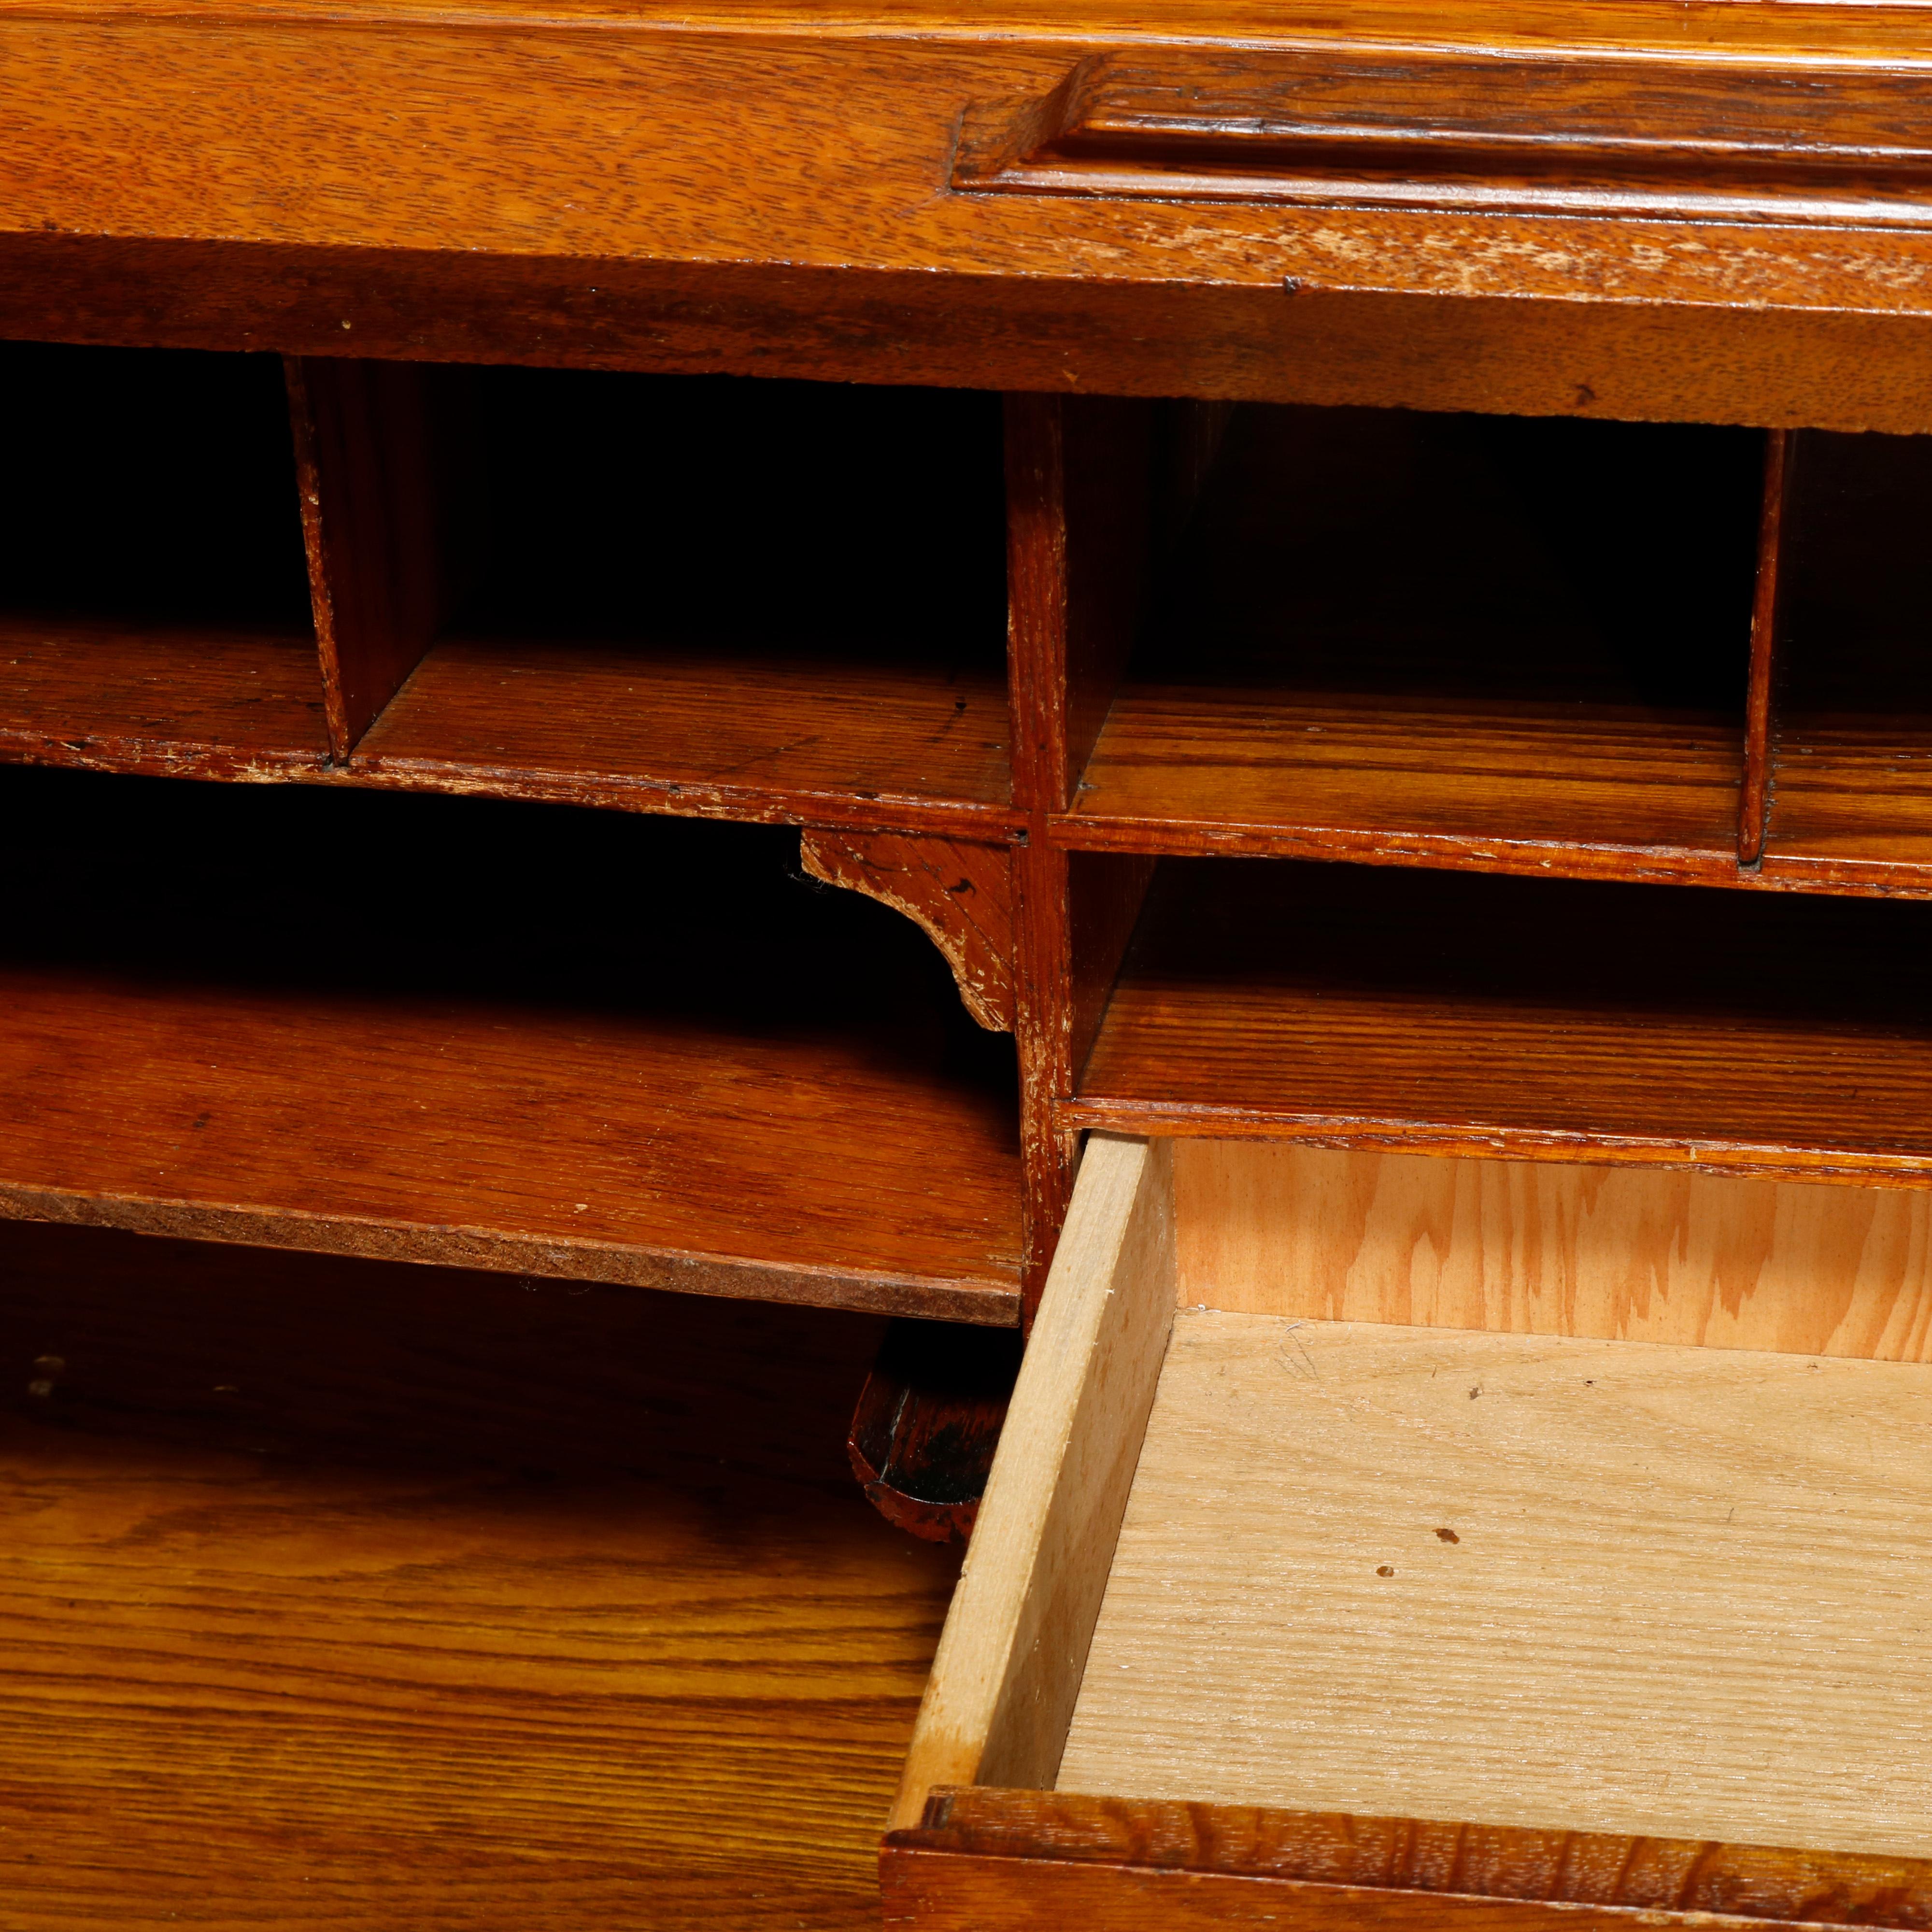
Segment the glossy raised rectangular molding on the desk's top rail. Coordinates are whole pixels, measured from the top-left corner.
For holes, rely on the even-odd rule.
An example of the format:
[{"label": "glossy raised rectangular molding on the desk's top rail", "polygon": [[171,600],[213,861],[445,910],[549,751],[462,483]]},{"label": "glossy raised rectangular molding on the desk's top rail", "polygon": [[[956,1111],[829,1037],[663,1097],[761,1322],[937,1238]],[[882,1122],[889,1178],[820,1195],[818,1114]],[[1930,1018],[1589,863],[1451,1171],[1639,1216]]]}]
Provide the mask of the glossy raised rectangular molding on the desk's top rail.
[{"label": "glossy raised rectangular molding on the desk's top rail", "polygon": [[1932,75],[1449,48],[1090,54],[966,110],[980,193],[1932,218]]}]

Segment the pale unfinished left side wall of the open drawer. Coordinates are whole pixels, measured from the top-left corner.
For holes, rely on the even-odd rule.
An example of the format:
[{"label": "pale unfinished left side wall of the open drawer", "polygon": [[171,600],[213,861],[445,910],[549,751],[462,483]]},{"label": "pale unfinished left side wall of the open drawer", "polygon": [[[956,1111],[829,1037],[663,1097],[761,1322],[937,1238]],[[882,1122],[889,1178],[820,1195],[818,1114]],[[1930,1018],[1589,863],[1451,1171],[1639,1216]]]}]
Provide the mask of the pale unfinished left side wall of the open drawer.
[{"label": "pale unfinished left side wall of the open drawer", "polygon": [[1167,1150],[1088,1142],[893,1804],[1051,1783],[1173,1323]]}]

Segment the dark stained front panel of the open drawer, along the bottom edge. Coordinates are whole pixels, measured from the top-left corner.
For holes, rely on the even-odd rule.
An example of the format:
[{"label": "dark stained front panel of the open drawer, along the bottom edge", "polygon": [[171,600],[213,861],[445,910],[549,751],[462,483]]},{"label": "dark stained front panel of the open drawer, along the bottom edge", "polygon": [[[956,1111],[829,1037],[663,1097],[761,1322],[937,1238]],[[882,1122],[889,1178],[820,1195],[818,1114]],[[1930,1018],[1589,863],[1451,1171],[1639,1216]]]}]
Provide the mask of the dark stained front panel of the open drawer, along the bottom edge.
[{"label": "dark stained front panel of the open drawer, along the bottom edge", "polygon": [[887,1839],[881,1872],[887,1924],[933,1928],[1084,1909],[1150,1928],[1716,1918],[1917,1932],[1932,1911],[1922,1859],[1065,1791],[935,1793],[920,1828]]}]

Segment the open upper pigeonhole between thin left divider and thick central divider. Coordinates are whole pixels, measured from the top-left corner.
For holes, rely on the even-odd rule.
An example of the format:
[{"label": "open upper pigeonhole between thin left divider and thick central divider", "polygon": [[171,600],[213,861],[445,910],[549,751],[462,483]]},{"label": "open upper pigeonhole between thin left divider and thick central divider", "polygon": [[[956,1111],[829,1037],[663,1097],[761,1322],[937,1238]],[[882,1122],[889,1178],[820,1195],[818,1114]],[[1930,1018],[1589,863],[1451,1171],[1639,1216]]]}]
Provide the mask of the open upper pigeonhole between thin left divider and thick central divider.
[{"label": "open upper pigeonhole between thin left divider and thick central divider", "polygon": [[301,371],[352,779],[1022,823],[995,398]]}]

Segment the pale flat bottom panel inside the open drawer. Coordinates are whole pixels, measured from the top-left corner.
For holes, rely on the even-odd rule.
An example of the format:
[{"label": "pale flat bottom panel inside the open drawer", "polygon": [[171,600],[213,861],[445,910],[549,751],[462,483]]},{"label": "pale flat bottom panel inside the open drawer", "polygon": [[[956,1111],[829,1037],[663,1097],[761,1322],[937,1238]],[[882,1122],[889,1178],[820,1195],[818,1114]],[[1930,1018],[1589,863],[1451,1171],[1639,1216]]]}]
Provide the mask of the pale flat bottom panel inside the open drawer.
[{"label": "pale flat bottom panel inside the open drawer", "polygon": [[1928,1426],[1917,1364],[1184,1310],[1059,1781],[1924,1857]]}]

